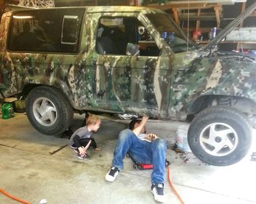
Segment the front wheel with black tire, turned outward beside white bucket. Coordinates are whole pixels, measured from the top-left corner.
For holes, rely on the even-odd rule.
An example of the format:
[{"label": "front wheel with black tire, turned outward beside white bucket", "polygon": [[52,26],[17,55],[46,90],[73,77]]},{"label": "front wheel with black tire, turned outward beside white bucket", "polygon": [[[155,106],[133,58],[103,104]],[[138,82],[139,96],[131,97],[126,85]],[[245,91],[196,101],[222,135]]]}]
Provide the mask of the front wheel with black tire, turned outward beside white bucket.
[{"label": "front wheel with black tire, turned outward beside white bucket", "polygon": [[212,106],[192,120],[188,143],[195,156],[203,162],[217,166],[232,165],[248,152],[252,144],[252,127],[237,109]]}]

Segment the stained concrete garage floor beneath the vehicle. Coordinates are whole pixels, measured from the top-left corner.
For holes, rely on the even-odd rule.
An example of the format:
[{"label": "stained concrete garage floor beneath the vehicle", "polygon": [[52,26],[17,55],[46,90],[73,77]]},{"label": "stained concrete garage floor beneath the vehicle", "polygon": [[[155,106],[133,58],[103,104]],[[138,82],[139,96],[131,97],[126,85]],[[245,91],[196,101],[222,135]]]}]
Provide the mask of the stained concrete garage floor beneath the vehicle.
[{"label": "stained concrete garage floor beneath the vehicle", "polygon": [[[31,203],[42,199],[48,200],[48,204],[157,203],[149,190],[151,170],[133,169],[128,158],[124,159],[124,170],[116,181],[105,181],[118,132],[129,121],[101,117],[102,126],[94,137],[102,151],[90,149],[89,161],[77,159],[66,146],[67,138],[38,133],[25,114],[0,119],[0,188]],[[73,126],[82,122],[83,116],[75,115]],[[150,120],[147,130],[166,139],[170,178],[184,203],[256,203],[256,162],[250,161],[252,149],[236,165],[206,165],[192,153],[182,155],[172,150],[176,128],[181,124]],[[190,158],[189,162],[185,163],[184,157]],[[168,184],[167,170],[165,195],[165,203],[179,203]],[[0,203],[17,202],[0,193]]]}]

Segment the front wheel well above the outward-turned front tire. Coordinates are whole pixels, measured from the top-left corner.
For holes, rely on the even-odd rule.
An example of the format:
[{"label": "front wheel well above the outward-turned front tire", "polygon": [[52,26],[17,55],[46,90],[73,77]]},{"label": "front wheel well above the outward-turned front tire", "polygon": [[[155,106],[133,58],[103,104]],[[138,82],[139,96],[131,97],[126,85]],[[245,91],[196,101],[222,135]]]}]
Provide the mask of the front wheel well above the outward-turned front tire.
[{"label": "front wheel well above the outward-turned front tire", "polygon": [[203,95],[189,107],[188,117],[211,106],[232,106],[246,115],[256,114],[256,103],[249,98],[229,95]]}]

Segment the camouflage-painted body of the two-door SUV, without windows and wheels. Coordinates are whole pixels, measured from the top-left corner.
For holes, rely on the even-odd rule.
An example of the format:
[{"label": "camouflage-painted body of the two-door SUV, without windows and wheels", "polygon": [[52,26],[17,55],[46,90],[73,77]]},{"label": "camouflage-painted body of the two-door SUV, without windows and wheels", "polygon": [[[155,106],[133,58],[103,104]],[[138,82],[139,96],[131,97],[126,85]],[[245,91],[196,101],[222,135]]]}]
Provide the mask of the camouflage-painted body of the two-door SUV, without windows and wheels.
[{"label": "camouflage-painted body of the two-door SUV, without windows and wheels", "polygon": [[[74,109],[147,114],[184,120],[206,95],[256,102],[255,60],[210,55],[200,50],[174,53],[145,16],[161,12],[138,7],[85,7],[76,55],[7,51],[12,12],[0,25],[0,88],[5,96],[26,85],[59,87]],[[119,12],[122,11],[122,12]],[[161,12],[162,13],[162,12]],[[100,17],[136,17],[159,47],[157,57],[99,55],[95,50]]]}]

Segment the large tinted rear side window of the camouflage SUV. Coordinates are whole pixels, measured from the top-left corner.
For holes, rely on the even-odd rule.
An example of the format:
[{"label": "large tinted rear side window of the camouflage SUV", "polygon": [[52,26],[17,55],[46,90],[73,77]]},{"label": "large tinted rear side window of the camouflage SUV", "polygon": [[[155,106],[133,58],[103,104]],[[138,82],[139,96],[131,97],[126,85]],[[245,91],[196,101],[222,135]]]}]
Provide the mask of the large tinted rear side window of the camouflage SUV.
[{"label": "large tinted rear side window of the camouflage SUV", "polygon": [[12,15],[8,49],[77,52],[84,9],[41,9]]}]

